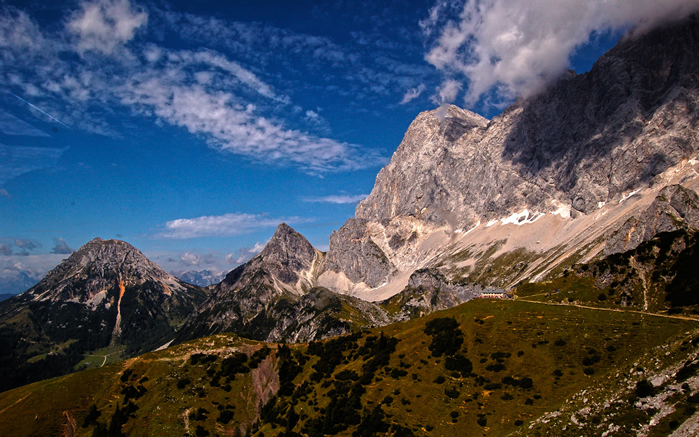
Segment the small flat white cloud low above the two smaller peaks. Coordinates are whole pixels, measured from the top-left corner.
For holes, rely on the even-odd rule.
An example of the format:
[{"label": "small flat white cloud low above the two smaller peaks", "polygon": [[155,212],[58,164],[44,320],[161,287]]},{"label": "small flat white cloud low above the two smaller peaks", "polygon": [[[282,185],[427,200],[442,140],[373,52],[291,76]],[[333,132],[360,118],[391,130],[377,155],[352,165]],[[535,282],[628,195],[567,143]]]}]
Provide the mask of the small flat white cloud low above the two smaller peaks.
[{"label": "small flat white cloud low above the two smaller peaks", "polygon": [[308,218],[270,218],[257,214],[224,214],[177,219],[165,223],[165,229],[156,234],[158,238],[189,239],[200,237],[230,237],[248,234],[258,229],[270,228],[286,223],[308,223]]}]

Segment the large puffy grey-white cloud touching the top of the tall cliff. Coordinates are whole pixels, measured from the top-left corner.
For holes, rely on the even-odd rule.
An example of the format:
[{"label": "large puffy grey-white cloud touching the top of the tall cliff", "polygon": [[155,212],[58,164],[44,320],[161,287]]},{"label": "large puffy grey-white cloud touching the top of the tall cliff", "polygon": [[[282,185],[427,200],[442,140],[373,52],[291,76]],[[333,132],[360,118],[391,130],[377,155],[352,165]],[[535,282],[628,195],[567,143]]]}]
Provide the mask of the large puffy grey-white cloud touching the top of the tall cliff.
[{"label": "large puffy grey-white cloud touching the top of the tall cliff", "polygon": [[456,19],[445,17],[456,3],[439,0],[421,25],[428,37],[437,35],[425,59],[446,83],[465,78],[467,105],[492,90],[504,100],[536,94],[593,32],[635,27],[639,34],[699,10],[699,0],[471,0]]}]

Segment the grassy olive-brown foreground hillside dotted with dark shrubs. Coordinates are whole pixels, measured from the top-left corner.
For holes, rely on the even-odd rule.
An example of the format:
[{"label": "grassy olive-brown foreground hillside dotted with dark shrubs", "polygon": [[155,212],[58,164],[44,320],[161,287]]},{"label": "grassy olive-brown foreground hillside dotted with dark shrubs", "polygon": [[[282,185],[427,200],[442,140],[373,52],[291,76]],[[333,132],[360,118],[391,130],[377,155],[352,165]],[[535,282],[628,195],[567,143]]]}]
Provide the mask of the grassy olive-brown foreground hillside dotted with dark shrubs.
[{"label": "grassy olive-brown foreground hillside dotted with dark shrubs", "polygon": [[[630,388],[620,396],[633,396],[647,374],[629,369],[643,360],[662,370],[693,359],[698,327],[475,300],[310,344],[224,334],[0,393],[0,434],[529,435],[531,424],[544,435],[551,430],[540,419],[583,390],[625,378]],[[632,428],[652,415],[639,418],[632,413],[641,410],[624,405],[633,420],[620,423],[635,435]]]}]

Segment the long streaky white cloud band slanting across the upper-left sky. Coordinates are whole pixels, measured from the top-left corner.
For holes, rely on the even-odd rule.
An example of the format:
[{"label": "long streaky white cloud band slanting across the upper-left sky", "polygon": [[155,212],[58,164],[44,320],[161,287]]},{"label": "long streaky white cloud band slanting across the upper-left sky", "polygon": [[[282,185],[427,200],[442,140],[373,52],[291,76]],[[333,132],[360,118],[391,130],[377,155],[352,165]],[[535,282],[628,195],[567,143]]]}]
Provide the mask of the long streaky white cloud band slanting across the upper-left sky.
[{"label": "long streaky white cloud band slanting across the upper-left sky", "polygon": [[[158,13],[160,16],[160,13]],[[190,24],[192,16],[172,20]],[[292,165],[308,173],[357,170],[385,162],[380,152],[286,126],[272,113],[291,105],[258,72],[215,50],[175,50],[147,42],[149,11],[129,0],[81,3],[63,30],[43,31],[25,12],[0,14],[0,83],[59,112],[71,127],[115,133],[105,117],[119,108],[181,126],[209,145],[254,161]],[[225,22],[208,20],[213,40],[229,40]],[[234,27],[237,41],[267,38]],[[228,33],[227,33],[228,32]],[[329,40],[277,32],[275,45],[302,48],[325,61],[345,62]],[[267,38],[272,44],[272,39]],[[247,44],[241,50],[250,50]],[[80,56],[76,56],[80,55]],[[334,62],[335,62],[334,61]],[[108,108],[108,109],[107,109]],[[54,110],[55,109],[55,110]],[[291,111],[290,111],[291,112]]]}]

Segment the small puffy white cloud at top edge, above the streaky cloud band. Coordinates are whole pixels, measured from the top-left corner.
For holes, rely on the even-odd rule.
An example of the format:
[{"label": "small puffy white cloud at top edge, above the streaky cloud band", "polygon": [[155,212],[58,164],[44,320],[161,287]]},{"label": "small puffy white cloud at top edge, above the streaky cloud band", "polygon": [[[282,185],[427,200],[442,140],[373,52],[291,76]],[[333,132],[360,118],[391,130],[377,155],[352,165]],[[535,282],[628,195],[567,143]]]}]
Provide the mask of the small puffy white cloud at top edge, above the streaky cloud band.
[{"label": "small puffy white cloud at top edge, above the streaky cloud band", "polygon": [[72,17],[67,27],[77,36],[80,53],[94,50],[111,54],[132,40],[136,30],[147,21],[148,14],[134,7],[130,0],[96,0],[83,2],[81,11]]}]

